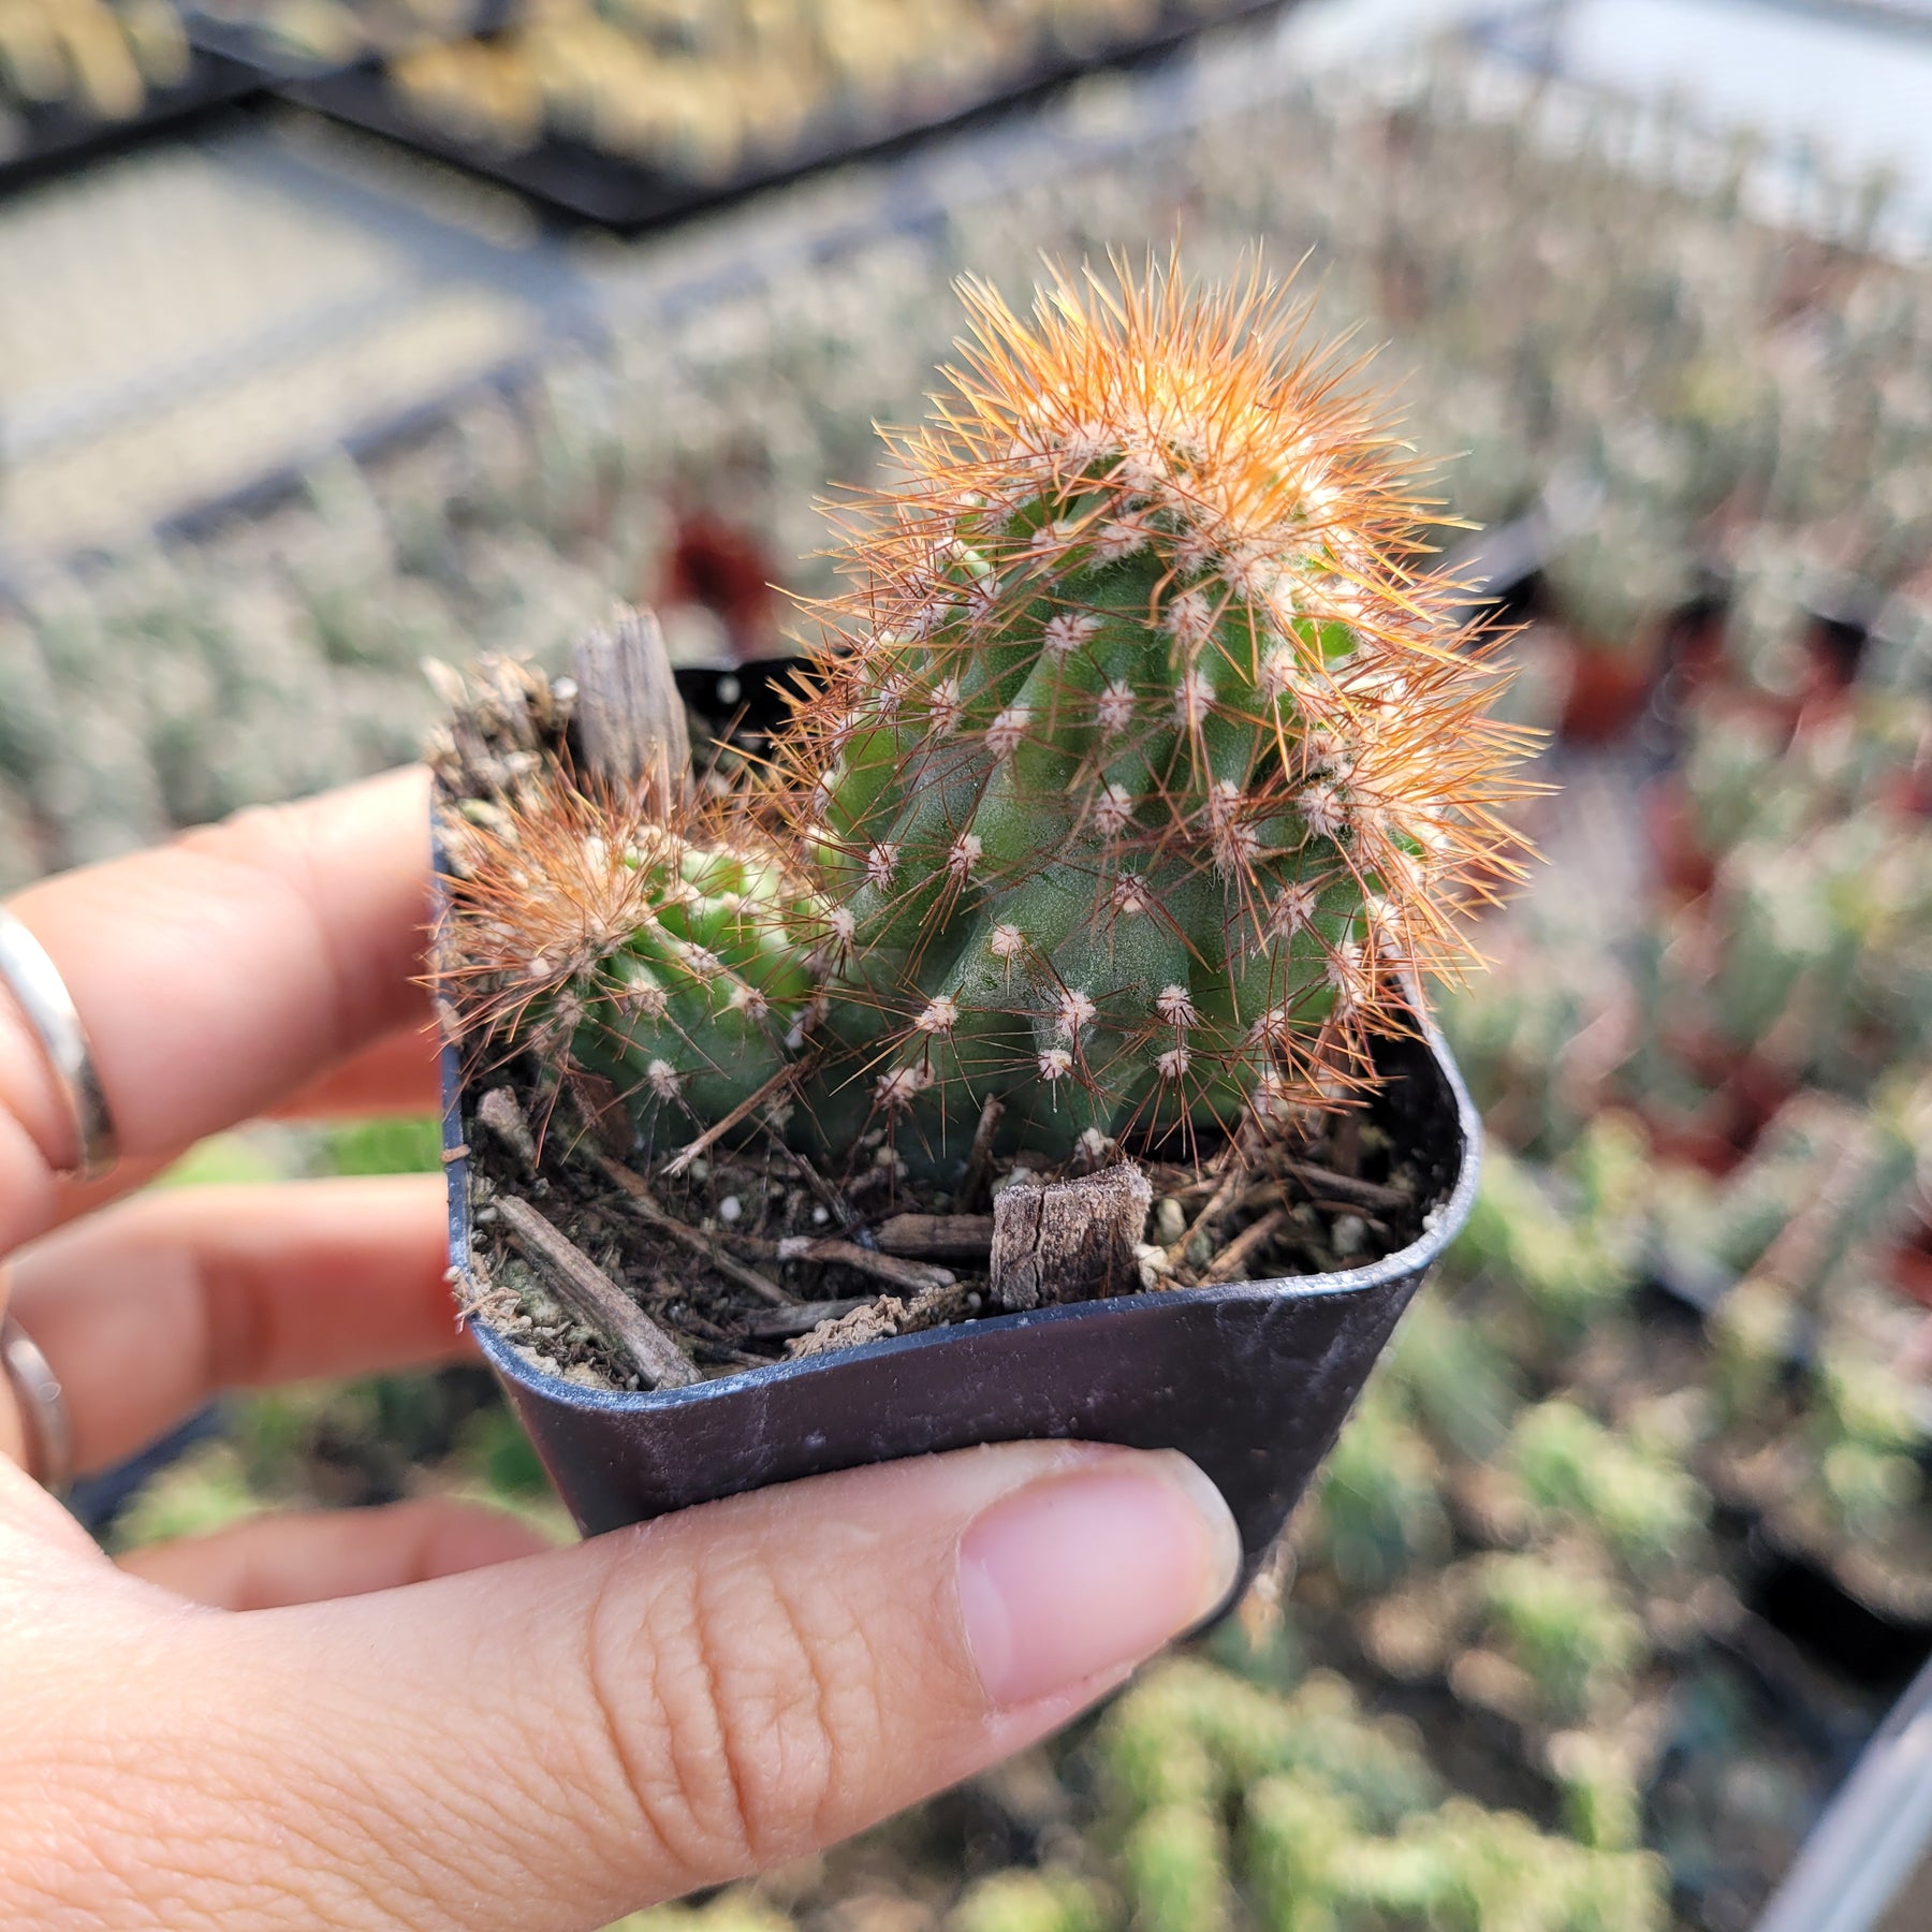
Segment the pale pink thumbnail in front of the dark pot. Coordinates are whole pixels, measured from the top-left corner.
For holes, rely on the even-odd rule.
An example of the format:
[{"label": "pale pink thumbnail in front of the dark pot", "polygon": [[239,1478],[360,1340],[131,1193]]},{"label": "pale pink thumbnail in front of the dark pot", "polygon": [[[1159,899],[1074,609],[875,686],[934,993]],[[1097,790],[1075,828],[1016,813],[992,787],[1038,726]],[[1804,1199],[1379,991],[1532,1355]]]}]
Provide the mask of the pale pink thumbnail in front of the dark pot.
[{"label": "pale pink thumbnail in front of the dark pot", "polygon": [[1119,1671],[1235,1586],[1240,1534],[1175,1451],[1121,1453],[1001,1497],[960,1540],[960,1609],[987,1696],[1012,1708]]}]

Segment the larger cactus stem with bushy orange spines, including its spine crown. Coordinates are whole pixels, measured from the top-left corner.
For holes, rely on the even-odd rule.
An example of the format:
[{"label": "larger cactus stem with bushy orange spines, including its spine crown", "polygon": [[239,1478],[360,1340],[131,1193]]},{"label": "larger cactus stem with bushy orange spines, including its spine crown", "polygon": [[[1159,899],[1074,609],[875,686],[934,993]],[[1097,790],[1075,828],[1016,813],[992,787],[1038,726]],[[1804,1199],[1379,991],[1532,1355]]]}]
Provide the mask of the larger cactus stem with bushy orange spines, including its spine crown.
[{"label": "larger cactus stem with bushy orange spines, including its spine crown", "polygon": [[987,1095],[1061,1153],[1331,1097],[1511,871],[1519,744],[1391,437],[1258,276],[964,298],[781,753],[837,954],[815,1105],[939,1163]]}]

